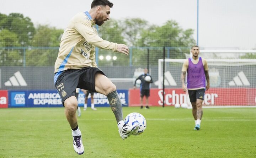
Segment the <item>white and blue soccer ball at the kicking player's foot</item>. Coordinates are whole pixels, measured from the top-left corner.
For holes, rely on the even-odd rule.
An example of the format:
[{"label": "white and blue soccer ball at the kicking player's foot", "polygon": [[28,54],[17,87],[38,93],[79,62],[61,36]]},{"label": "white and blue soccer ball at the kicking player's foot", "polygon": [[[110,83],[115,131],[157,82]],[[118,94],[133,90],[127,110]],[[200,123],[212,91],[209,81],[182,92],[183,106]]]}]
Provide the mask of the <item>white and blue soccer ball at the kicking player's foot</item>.
[{"label": "white and blue soccer ball at the kicking player's foot", "polygon": [[144,116],[140,113],[130,113],[126,116],[124,119],[124,123],[126,125],[132,126],[134,124],[139,124],[139,130],[136,133],[133,133],[132,135],[140,135],[143,133],[143,131],[146,129],[146,119]]}]

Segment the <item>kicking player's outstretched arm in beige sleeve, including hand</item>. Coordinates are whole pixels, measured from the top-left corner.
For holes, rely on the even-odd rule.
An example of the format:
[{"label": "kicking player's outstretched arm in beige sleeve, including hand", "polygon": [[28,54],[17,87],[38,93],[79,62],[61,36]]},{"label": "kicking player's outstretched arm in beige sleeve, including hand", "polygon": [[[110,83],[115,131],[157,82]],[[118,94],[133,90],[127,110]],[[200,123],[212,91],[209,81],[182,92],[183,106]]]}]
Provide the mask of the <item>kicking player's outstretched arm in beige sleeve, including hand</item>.
[{"label": "kicking player's outstretched arm in beige sleeve, including hand", "polygon": [[129,54],[129,49],[127,45],[109,42],[100,38],[91,28],[91,23],[89,21],[76,22],[75,29],[85,38],[88,43],[98,48],[117,51],[126,55]]}]

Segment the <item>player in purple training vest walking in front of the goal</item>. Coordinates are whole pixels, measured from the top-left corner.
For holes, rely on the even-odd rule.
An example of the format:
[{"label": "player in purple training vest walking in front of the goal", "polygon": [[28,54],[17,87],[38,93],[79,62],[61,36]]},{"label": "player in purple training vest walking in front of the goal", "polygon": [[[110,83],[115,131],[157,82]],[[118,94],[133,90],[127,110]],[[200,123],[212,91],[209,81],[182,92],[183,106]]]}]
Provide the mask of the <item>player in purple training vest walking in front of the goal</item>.
[{"label": "player in purple training vest walking in front of the goal", "polygon": [[[210,88],[208,74],[208,65],[206,59],[199,57],[199,47],[197,45],[191,48],[192,58],[186,59],[182,66],[181,82],[184,92],[188,91],[190,102],[192,104],[192,114],[195,124],[194,130],[199,130],[203,116],[202,103],[204,93]],[[185,77],[187,72],[187,87],[185,86]],[[206,85],[207,81],[207,85]]]}]

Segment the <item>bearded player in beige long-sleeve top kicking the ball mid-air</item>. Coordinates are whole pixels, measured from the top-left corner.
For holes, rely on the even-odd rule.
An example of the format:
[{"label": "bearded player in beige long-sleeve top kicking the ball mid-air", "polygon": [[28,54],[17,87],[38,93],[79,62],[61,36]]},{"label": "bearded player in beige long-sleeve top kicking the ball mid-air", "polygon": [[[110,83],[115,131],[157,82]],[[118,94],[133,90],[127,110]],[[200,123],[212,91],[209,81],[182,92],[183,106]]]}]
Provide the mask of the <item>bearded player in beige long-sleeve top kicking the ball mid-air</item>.
[{"label": "bearded player in beige long-sleeve top kicking the ball mid-air", "polygon": [[107,96],[122,139],[136,133],[139,128],[138,124],[125,125],[116,86],[97,68],[95,61],[95,47],[129,54],[127,45],[108,42],[97,35],[95,24],[101,26],[110,20],[112,6],[108,0],[94,0],[90,11],[76,14],[63,33],[55,62],[54,83],[65,107],[66,119],[72,129],[73,147],[78,154],[84,153],[84,146],[76,117],[76,88]]}]

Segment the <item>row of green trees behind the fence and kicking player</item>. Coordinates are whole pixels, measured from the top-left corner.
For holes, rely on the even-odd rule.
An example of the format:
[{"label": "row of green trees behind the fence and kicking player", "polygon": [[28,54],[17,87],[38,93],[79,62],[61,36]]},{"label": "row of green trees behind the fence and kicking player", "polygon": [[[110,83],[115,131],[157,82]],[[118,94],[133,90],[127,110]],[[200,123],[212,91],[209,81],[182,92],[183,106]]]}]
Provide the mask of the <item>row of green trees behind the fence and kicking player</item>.
[{"label": "row of green trees behind the fence and kicking player", "polygon": [[[13,47],[0,50],[0,65],[20,65],[22,62],[26,62],[27,66],[54,65],[62,34],[63,29],[48,25],[34,28],[31,19],[20,13],[0,13],[0,47]],[[146,65],[148,58],[147,48],[141,47],[150,47],[149,62],[157,65],[158,59],[163,58],[163,47],[175,47],[166,50],[166,58],[184,58],[181,49],[195,44],[193,30],[183,30],[175,21],[155,26],[141,18],[111,19],[98,27],[98,34],[104,40],[127,44],[132,53],[132,64],[138,66]],[[117,60],[111,62],[98,60],[101,66],[130,64],[130,57],[120,53],[99,49],[100,55],[117,56]],[[23,61],[24,58],[26,61]]]}]

